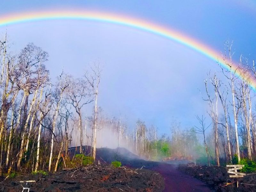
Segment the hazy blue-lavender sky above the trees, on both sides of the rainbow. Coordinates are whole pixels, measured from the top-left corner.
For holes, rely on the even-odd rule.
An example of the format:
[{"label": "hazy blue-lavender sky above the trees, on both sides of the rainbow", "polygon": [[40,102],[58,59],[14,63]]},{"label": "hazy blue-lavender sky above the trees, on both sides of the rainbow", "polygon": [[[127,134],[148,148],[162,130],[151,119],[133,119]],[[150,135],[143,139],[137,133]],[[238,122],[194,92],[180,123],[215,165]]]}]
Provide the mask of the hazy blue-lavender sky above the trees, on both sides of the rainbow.
[{"label": "hazy blue-lavender sky above the trees, on both sides of the rainbow", "polygon": [[[50,1],[2,0],[1,15],[23,11],[104,11],[164,25],[223,52],[234,41],[235,58],[256,58],[256,3],[253,0],[181,1]],[[0,28],[4,36],[5,28]],[[52,80],[64,71],[81,76],[88,64],[100,62],[103,76],[99,105],[108,116],[121,116],[134,126],[140,118],[170,133],[173,119],[192,127],[205,114],[202,101],[206,73],[215,61],[164,37],[125,26],[81,20],[45,20],[7,26],[13,52],[34,42],[49,52]],[[87,106],[89,111],[92,106]]]}]

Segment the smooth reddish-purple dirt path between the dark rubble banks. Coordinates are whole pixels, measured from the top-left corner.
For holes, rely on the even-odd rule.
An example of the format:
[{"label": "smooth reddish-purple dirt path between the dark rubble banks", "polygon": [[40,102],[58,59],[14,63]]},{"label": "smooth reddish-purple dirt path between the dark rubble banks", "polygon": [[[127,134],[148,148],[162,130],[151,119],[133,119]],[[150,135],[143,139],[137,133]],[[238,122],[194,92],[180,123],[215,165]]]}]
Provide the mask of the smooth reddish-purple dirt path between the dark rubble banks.
[{"label": "smooth reddish-purple dirt path between the dark rubble banks", "polygon": [[166,192],[211,192],[202,181],[178,171],[177,165],[161,164],[155,169],[164,177],[164,191]]}]

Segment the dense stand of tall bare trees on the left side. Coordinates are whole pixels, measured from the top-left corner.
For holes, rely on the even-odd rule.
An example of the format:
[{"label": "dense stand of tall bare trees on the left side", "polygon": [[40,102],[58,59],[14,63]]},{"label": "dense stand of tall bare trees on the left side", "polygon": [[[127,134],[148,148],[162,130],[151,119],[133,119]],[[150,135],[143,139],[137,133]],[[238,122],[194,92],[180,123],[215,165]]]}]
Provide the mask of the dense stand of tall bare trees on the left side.
[{"label": "dense stand of tall bare trees on the left side", "polygon": [[[0,41],[0,57],[0,173],[46,167],[56,171],[75,124],[83,146],[82,114],[89,103],[95,106],[93,129],[97,127],[100,66],[95,64],[78,78],[62,71],[52,84],[45,66],[49,54],[33,43],[12,54],[6,35]],[[92,138],[95,158],[96,131]]]}]

